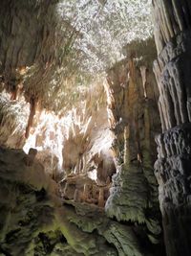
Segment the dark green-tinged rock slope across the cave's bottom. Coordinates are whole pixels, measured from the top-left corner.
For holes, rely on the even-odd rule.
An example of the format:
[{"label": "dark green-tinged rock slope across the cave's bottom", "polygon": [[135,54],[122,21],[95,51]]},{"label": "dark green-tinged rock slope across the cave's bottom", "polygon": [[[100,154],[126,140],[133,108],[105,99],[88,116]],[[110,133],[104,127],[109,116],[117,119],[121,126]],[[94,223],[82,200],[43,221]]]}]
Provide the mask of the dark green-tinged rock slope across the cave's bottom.
[{"label": "dark green-tinged rock slope across the cave's bottom", "polygon": [[156,255],[131,224],[103,209],[63,202],[57,184],[20,150],[0,149],[0,252],[2,255]]}]

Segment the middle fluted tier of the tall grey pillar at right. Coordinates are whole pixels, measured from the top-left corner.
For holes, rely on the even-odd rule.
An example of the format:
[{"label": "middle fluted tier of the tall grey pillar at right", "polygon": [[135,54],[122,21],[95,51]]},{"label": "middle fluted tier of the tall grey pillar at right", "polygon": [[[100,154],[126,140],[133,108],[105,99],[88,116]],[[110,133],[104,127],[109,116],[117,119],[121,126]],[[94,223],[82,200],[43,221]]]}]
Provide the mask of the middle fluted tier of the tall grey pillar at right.
[{"label": "middle fluted tier of the tall grey pillar at right", "polygon": [[191,121],[190,43],[191,32],[182,32],[166,44],[155,61],[162,130]]}]

